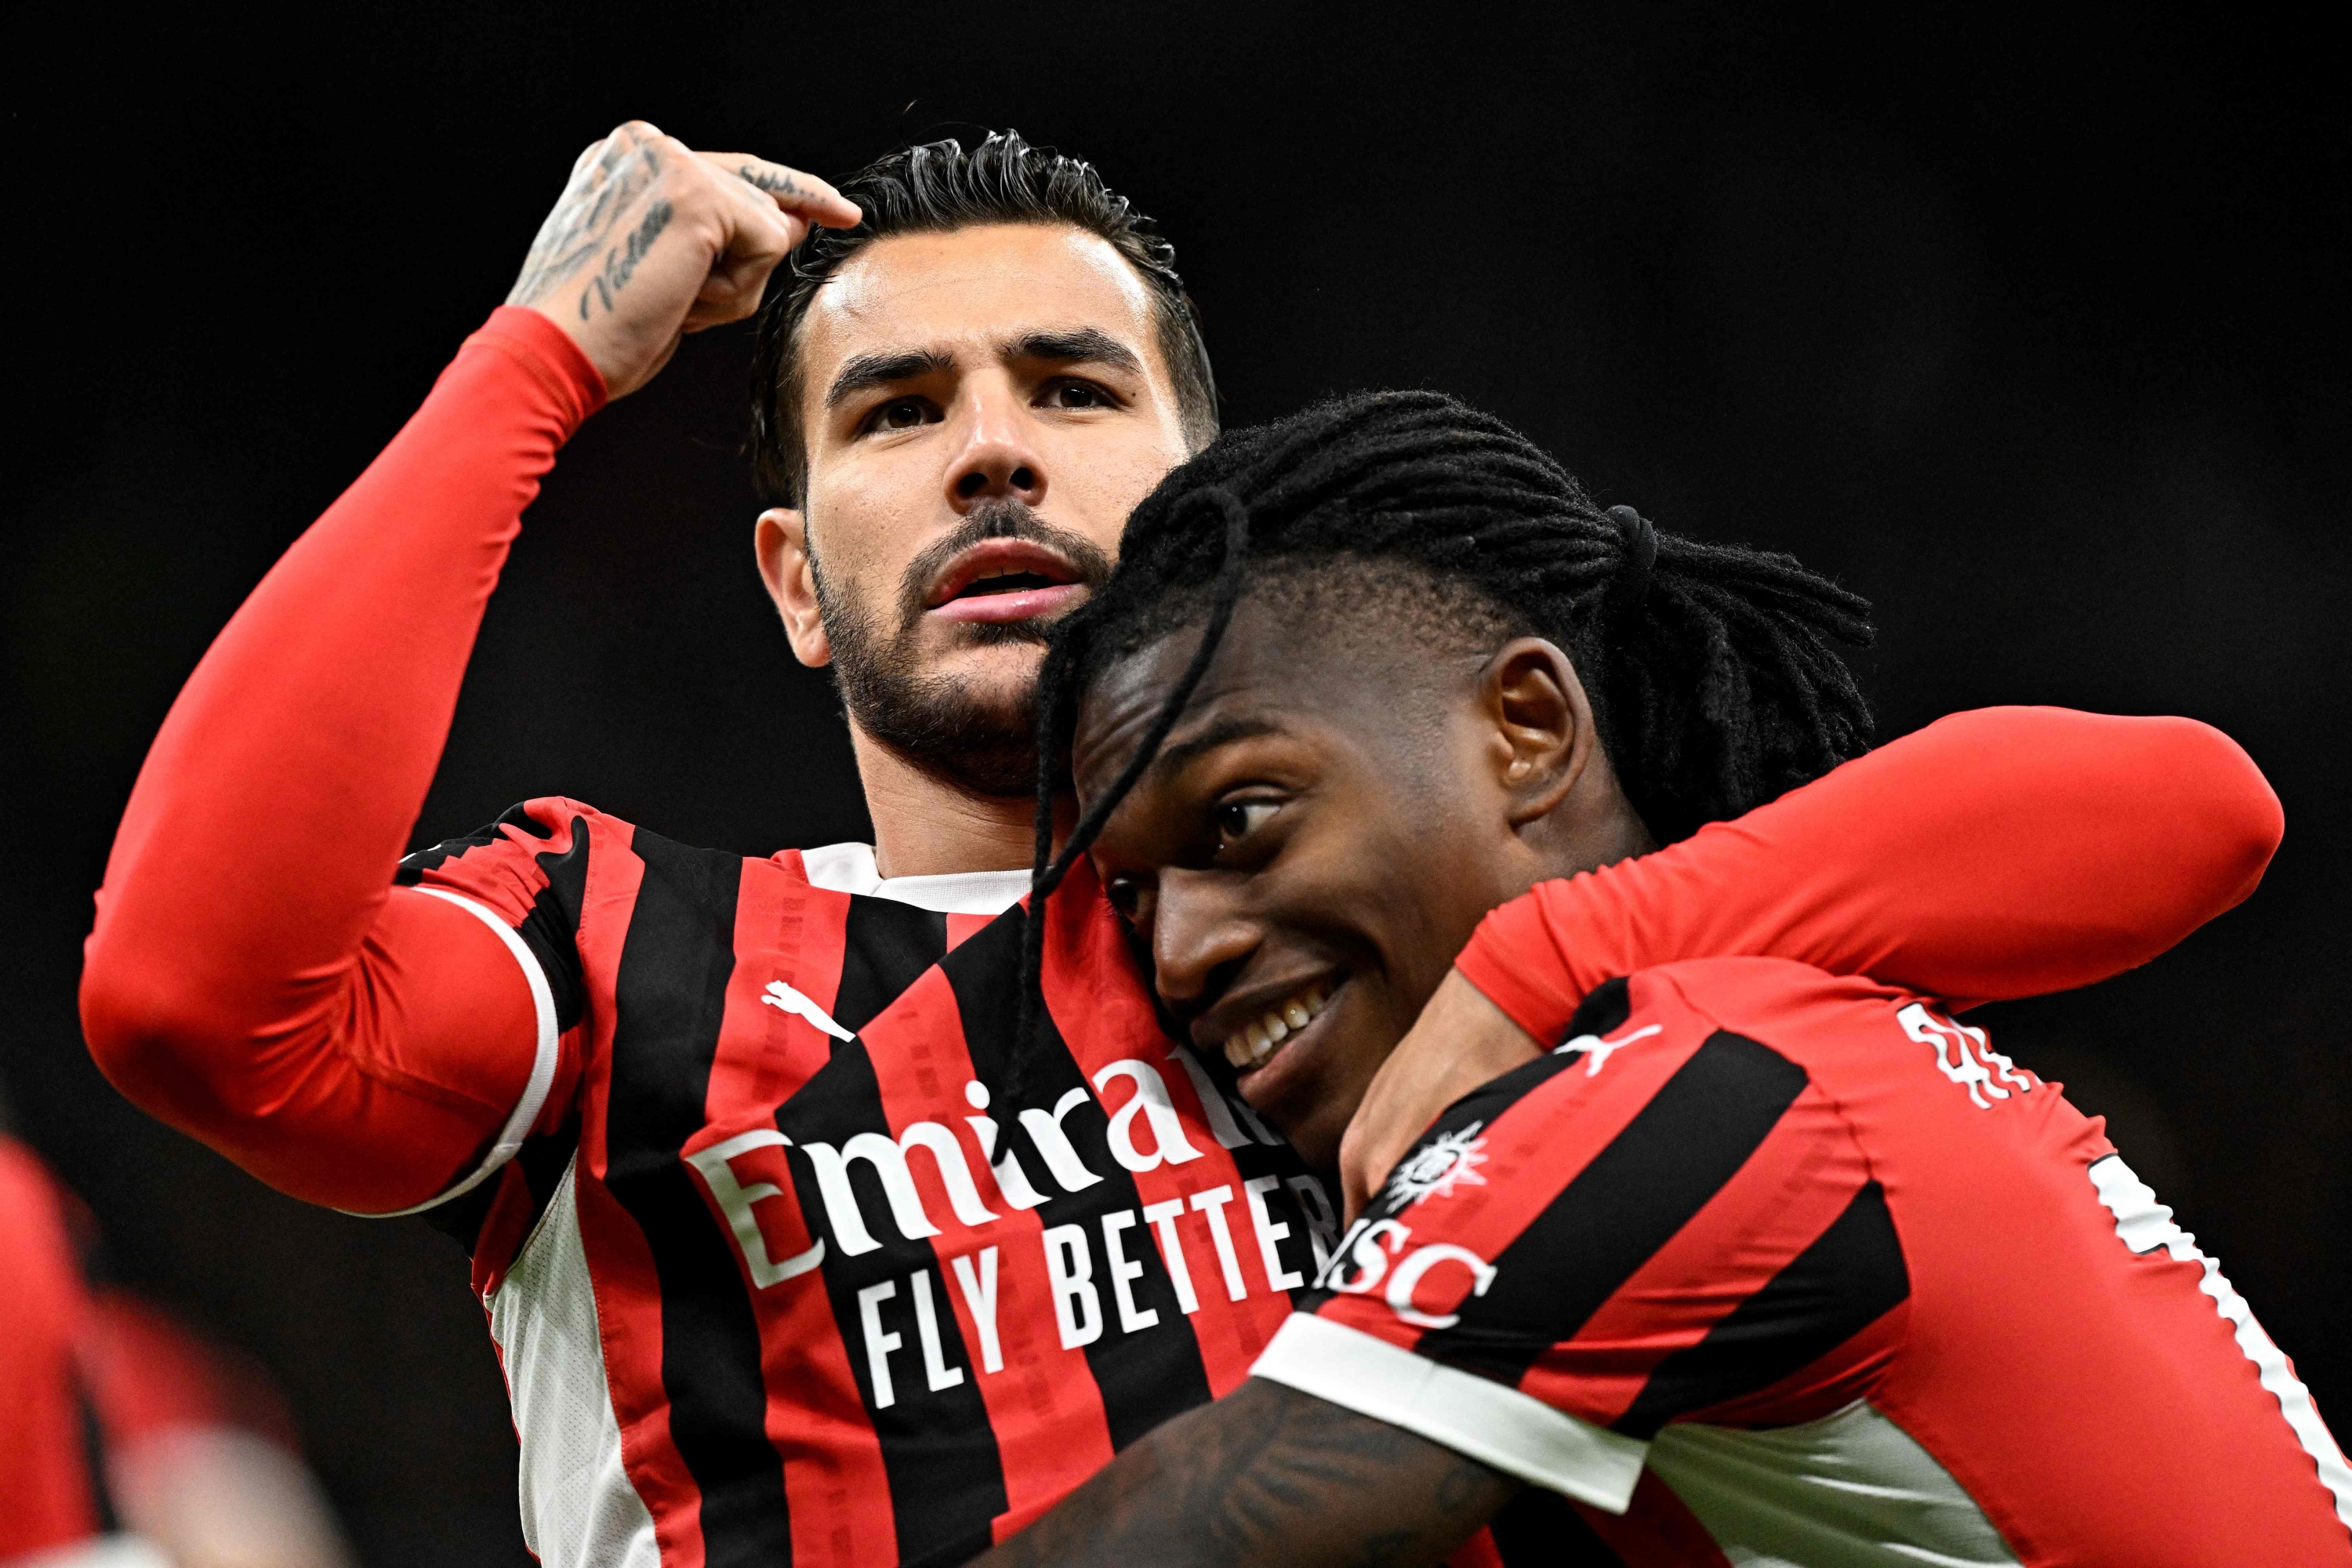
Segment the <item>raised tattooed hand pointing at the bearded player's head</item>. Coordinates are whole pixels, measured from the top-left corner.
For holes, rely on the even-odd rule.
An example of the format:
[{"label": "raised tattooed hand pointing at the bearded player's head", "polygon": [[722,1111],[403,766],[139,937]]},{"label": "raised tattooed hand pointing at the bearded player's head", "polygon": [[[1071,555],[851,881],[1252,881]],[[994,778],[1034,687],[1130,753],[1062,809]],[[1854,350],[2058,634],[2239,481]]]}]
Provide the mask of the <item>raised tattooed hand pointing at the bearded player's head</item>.
[{"label": "raised tattooed hand pointing at the bearded player's head", "polygon": [[668,364],[684,334],[757,310],[809,223],[849,228],[858,216],[814,174],[696,153],[630,120],[572,165],[506,303],[562,327],[621,397]]}]

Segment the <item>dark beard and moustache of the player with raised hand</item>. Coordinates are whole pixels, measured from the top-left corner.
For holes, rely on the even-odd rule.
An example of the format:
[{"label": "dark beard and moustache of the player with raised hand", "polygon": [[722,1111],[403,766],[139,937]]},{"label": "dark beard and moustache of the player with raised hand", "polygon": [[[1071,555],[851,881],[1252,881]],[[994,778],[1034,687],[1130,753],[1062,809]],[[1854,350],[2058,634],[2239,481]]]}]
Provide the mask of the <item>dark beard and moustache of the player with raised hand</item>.
[{"label": "dark beard and moustache of the player with raised hand", "polygon": [[[826,578],[809,538],[816,609],[833,644],[842,705],[858,729],[910,764],[964,795],[1025,799],[1037,792],[1037,675],[1004,686],[924,670],[924,592],[950,559],[983,538],[1028,538],[1056,550],[1089,590],[1110,576],[1110,557],[1094,541],[1049,527],[1018,501],[976,508],[955,531],[927,545],[898,581],[889,611],[844,592]],[[964,621],[960,646],[1035,644],[1051,637],[1049,621]]]}]

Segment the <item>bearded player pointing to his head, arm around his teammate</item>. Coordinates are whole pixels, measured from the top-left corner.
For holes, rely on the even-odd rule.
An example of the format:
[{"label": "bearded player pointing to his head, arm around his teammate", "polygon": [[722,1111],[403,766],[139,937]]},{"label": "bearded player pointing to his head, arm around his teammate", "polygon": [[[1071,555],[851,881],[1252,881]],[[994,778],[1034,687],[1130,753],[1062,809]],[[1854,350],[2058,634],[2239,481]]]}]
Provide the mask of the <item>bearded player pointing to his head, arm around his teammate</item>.
[{"label": "bearded player pointing to his head, arm around his teammate", "polygon": [[[840,675],[875,844],[746,858],[534,799],[402,860],[539,477],[755,308],[757,559]],[[99,896],[92,1051],[261,1180],[468,1244],[541,1561],[969,1556],[1237,1387],[1319,1267],[1317,1168],[1162,1034],[1082,872],[1018,1037],[1044,635],[1214,428],[1171,252],[1091,167],[1004,134],[835,193],[628,125],[174,703]],[[2209,731],[1969,733],[2011,766],[1898,741],[1545,919],[1628,966],[2020,994],[2161,952],[2274,842]]]}]

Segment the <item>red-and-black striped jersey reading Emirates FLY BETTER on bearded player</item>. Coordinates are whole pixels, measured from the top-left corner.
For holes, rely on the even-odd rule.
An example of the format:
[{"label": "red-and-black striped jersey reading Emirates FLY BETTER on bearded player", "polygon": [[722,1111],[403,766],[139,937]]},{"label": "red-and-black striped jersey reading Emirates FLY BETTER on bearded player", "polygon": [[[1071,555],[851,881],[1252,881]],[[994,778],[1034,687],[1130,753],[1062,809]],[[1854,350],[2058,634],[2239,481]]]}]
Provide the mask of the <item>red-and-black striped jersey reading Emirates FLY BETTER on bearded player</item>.
[{"label": "red-and-black striped jersey reading Emirates FLY BETTER on bearded player", "polygon": [[1336,1239],[1084,891],[1016,1074],[1018,905],[828,891],[567,799],[400,879],[508,933],[543,1004],[543,1103],[435,1211],[541,1561],[962,1561],[1232,1389]]}]

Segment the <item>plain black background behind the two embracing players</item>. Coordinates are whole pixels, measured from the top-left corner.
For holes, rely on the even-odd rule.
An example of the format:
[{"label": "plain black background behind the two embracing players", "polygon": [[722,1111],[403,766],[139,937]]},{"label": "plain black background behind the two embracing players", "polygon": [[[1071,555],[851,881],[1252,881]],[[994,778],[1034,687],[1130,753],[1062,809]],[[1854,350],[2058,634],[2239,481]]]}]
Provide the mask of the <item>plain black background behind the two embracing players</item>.
[{"label": "plain black background behind the two embracing players", "polygon": [[[2237,736],[2286,799],[2263,891],[1992,1020],[2352,1410],[2336,49],[2145,7],[1416,9],[12,12],[0,1077],[120,1269],[285,1382],[369,1563],[522,1559],[456,1248],[125,1105],[78,943],[176,684],[628,115],[826,174],[1016,125],[1162,219],[1230,418],[1446,388],[1604,501],[1795,550],[1879,604],[1882,736],[2013,701]],[[760,853],[863,835],[753,574],[743,360],[689,343],[564,454],[419,842],[546,792]]]}]

